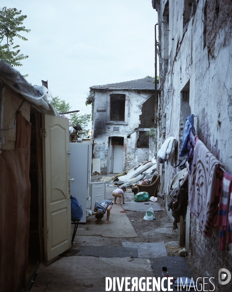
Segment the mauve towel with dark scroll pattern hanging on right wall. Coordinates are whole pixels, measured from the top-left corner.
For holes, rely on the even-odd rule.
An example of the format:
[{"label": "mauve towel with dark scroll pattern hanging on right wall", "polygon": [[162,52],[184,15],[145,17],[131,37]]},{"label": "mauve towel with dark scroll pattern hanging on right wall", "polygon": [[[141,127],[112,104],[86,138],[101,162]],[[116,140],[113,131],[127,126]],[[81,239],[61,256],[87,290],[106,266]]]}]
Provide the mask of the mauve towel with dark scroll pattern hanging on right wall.
[{"label": "mauve towel with dark scroll pattern hanging on right wall", "polygon": [[190,212],[202,226],[202,234],[211,237],[215,213],[216,170],[220,162],[200,141],[196,141],[189,186]]}]

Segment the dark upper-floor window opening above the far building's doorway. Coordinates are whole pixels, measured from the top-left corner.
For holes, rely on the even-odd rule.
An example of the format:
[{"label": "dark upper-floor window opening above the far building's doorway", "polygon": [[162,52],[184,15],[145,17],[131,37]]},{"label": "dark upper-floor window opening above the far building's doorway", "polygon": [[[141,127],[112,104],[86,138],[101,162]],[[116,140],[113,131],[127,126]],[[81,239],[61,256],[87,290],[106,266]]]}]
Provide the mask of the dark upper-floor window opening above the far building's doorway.
[{"label": "dark upper-floor window opening above the far building's doorway", "polygon": [[110,121],[125,120],[125,94],[110,94]]}]

